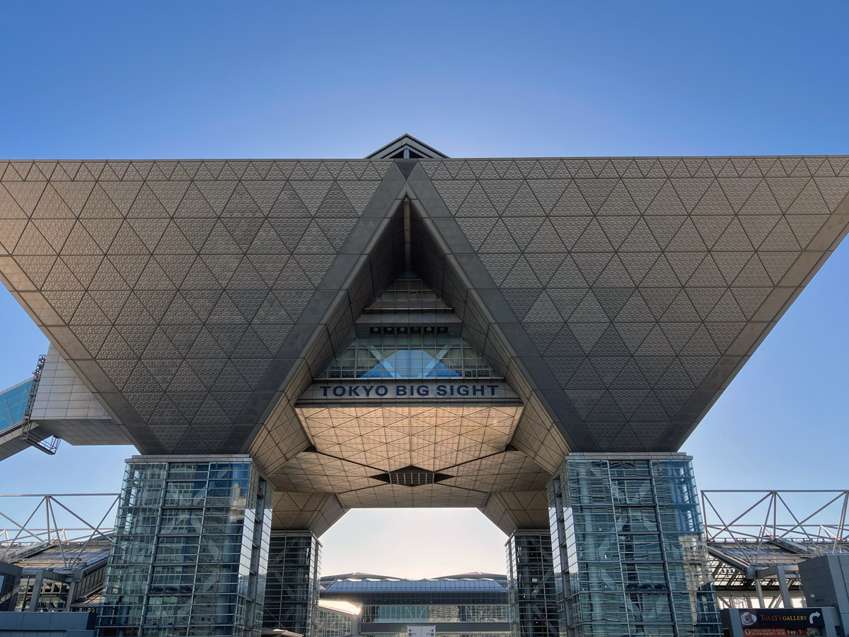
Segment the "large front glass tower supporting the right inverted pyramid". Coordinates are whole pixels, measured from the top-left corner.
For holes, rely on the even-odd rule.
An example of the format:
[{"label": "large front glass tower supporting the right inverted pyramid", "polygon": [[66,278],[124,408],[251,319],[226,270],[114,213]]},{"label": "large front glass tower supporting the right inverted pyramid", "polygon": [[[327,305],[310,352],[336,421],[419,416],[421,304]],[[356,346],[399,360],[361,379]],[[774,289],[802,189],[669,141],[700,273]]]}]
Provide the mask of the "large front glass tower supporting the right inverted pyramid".
[{"label": "large front glass tower supporting the right inverted pyramid", "polygon": [[548,484],[560,634],[722,634],[684,454],[569,454]]}]

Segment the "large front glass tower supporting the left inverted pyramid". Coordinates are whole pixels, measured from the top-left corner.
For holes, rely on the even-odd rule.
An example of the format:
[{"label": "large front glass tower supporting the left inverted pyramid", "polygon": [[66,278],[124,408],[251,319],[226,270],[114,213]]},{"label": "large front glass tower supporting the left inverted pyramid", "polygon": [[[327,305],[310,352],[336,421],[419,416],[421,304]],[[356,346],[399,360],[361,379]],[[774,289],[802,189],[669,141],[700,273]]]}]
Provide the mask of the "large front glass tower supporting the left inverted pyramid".
[{"label": "large front glass tower supporting the left inverted pyramid", "polygon": [[103,637],[258,637],[273,490],[246,455],[127,461]]}]

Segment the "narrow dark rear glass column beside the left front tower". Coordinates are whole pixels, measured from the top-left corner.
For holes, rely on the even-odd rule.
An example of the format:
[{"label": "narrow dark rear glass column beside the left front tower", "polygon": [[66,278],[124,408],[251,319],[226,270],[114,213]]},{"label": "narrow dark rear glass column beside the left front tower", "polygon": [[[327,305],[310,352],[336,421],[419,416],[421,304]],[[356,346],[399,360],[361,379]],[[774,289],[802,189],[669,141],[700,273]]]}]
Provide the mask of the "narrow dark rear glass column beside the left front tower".
[{"label": "narrow dark rear glass column beside the left front tower", "polygon": [[272,532],[263,629],[311,637],[318,606],[321,548],[310,531]]}]

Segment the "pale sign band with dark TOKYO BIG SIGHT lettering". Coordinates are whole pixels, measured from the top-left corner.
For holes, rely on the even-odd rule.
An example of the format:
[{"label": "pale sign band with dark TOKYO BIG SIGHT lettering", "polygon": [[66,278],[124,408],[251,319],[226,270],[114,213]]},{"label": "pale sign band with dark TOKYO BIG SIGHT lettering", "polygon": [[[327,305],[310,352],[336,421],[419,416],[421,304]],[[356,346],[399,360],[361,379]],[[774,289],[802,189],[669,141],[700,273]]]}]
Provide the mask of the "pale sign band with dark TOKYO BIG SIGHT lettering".
[{"label": "pale sign band with dark TOKYO BIG SIGHT lettering", "polygon": [[[301,395],[299,403],[442,403],[449,401],[519,403],[507,383],[499,381],[318,381]],[[425,636],[426,637],[426,636]]]}]

